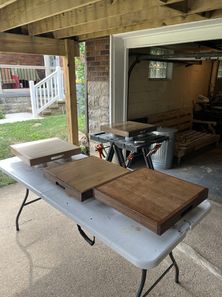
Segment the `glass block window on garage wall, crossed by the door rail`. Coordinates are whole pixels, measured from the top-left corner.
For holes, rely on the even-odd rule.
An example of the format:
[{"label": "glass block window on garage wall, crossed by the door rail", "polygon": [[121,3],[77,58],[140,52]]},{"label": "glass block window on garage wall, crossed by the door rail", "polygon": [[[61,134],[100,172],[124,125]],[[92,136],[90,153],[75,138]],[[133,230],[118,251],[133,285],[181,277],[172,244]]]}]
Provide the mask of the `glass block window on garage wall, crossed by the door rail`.
[{"label": "glass block window on garage wall, crossed by the door rail", "polygon": [[[166,50],[150,49],[151,55],[164,55],[167,54]],[[149,61],[149,78],[166,78],[166,62]]]}]

